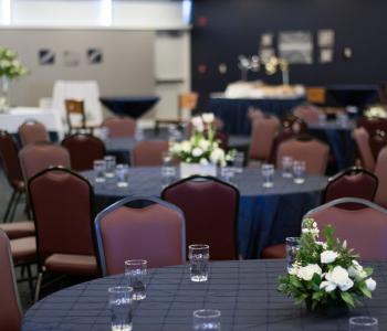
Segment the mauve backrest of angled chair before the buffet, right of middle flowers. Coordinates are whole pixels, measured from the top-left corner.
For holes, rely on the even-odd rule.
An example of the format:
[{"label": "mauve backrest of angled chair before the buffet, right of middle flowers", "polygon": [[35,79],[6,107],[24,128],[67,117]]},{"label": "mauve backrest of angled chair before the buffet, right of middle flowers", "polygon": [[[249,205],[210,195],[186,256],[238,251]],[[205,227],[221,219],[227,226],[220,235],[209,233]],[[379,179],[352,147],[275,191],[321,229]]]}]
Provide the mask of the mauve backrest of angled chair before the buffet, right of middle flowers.
[{"label": "mauve backrest of angled chair before the buffet, right of middle flowers", "polygon": [[280,128],[276,117],[263,117],[252,121],[249,158],[252,160],[269,161],[273,141]]}]

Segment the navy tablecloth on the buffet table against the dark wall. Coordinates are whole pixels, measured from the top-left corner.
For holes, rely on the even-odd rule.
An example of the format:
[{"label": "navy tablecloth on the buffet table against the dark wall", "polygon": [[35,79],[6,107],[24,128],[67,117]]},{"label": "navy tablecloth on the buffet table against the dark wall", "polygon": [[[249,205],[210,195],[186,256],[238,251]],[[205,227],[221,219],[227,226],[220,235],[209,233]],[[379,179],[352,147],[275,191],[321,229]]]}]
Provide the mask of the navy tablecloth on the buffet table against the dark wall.
[{"label": "navy tablecloth on the buffet table against the dark wall", "polygon": [[282,117],[305,102],[305,98],[289,99],[230,99],[210,98],[206,111],[213,113],[224,122],[224,132],[228,135],[249,135],[251,131],[248,118],[249,107],[258,107],[264,113]]}]

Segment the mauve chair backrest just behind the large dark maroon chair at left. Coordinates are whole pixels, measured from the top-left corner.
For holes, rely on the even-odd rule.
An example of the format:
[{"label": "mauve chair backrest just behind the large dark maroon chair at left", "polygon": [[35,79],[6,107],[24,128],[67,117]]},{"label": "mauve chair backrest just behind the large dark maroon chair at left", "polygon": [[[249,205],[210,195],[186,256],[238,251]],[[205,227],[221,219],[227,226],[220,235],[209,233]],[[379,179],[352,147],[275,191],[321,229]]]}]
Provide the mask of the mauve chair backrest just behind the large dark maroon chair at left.
[{"label": "mauve chair backrest just behind the large dark maroon chair at left", "polygon": [[25,181],[49,167],[71,167],[69,151],[52,143],[28,145],[20,150],[19,160]]}]

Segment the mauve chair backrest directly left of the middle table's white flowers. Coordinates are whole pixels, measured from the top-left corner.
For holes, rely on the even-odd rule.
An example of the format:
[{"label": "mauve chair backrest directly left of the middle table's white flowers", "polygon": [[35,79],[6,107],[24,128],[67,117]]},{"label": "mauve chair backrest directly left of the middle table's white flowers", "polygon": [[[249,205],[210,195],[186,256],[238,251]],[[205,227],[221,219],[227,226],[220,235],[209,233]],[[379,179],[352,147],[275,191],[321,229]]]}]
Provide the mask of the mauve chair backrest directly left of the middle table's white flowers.
[{"label": "mauve chair backrest directly left of the middle table's white flowers", "polygon": [[169,143],[164,140],[144,140],[138,142],[130,152],[132,166],[153,167],[163,164],[163,152],[168,151]]}]

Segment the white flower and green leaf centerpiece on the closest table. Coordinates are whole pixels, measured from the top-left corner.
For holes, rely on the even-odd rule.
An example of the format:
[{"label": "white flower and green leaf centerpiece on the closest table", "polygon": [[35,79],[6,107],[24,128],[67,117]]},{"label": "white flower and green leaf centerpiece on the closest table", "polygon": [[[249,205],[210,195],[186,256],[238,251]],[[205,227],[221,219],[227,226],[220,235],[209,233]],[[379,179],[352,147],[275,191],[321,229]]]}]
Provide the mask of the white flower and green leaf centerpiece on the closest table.
[{"label": "white flower and green leaf centerpiece on the closest table", "polygon": [[346,241],[333,238],[333,227],[323,231],[325,242],[318,241],[318,228],[313,218],[303,222],[300,245],[293,267],[280,277],[279,291],[303,301],[311,311],[330,316],[347,312],[362,297],[372,298],[376,281],[372,268],[363,268]]}]

